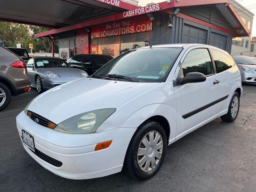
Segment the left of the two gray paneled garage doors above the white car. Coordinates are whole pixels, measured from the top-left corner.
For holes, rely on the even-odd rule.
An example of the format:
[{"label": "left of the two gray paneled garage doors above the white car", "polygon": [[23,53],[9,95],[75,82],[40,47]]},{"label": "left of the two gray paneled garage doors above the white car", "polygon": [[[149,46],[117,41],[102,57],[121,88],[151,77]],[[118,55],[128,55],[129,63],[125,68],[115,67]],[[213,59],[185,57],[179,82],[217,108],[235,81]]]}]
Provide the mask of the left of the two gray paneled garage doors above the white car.
[{"label": "left of the two gray paneled garage doors above the white car", "polygon": [[184,24],[182,43],[206,44],[206,30]]}]

